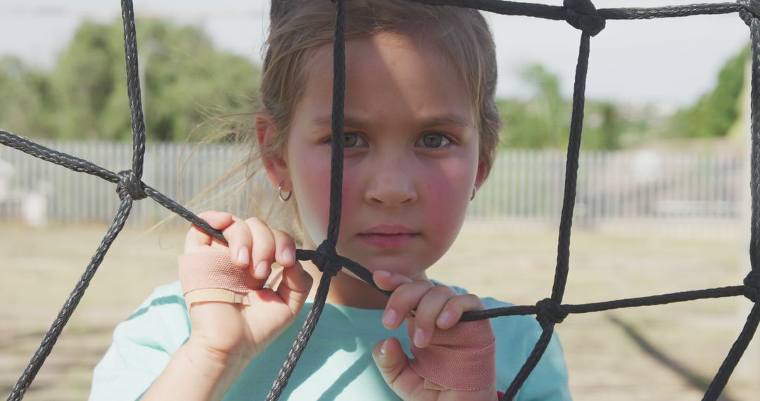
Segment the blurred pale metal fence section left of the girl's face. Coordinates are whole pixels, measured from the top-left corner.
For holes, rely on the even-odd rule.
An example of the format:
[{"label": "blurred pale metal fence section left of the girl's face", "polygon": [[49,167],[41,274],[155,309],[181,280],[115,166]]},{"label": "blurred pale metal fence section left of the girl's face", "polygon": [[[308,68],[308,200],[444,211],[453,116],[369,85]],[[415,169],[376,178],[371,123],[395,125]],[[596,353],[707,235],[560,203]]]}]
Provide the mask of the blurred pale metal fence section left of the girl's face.
[{"label": "blurred pale metal fence section left of the girl's face", "polygon": [[[43,141],[42,144],[113,172],[131,166],[131,143]],[[195,144],[150,144],[145,151],[143,181],[184,202],[210,187],[230,169],[236,156],[230,146],[207,144],[190,157],[194,150]],[[229,187],[221,185],[211,195]],[[232,206],[233,212],[242,213],[242,199]],[[0,221],[23,221],[32,226],[109,223],[118,207],[116,185],[0,147]],[[153,201],[136,202],[127,224],[157,223],[171,215]],[[176,220],[182,223],[181,219]]]}]

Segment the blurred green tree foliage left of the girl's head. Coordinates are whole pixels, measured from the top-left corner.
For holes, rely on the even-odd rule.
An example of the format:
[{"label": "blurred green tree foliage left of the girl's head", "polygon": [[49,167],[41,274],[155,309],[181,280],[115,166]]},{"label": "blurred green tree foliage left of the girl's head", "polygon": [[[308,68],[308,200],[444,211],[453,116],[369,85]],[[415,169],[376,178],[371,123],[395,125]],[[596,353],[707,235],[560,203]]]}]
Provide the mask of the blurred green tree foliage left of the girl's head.
[{"label": "blurred green tree foliage left of the girl's head", "polygon": [[[182,141],[213,115],[252,111],[258,68],[214,49],[196,27],[138,22],[146,131]],[[122,24],[78,27],[52,71],[0,61],[0,125],[28,137],[128,140]]]}]

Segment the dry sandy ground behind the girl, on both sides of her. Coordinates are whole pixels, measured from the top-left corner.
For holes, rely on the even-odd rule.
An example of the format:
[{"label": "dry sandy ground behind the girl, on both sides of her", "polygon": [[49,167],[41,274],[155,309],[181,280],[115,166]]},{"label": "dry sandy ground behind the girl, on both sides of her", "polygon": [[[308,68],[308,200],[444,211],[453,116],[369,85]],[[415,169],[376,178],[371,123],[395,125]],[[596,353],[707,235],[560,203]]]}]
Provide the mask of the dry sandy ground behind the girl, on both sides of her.
[{"label": "dry sandy ground behind the girl, on both sides of her", "polygon": [[[105,226],[0,226],[0,391],[10,393],[105,232]],[[576,230],[564,302],[741,283],[749,269],[746,238],[692,237]],[[180,229],[125,229],[119,235],[26,399],[87,397],[92,368],[116,324],[154,286],[176,279],[183,238]],[[551,292],[556,238],[548,226],[467,223],[430,276],[481,296],[533,305]],[[749,306],[737,297],[569,316],[557,331],[574,398],[701,399]],[[760,399],[758,348],[745,355],[722,399]]]}]

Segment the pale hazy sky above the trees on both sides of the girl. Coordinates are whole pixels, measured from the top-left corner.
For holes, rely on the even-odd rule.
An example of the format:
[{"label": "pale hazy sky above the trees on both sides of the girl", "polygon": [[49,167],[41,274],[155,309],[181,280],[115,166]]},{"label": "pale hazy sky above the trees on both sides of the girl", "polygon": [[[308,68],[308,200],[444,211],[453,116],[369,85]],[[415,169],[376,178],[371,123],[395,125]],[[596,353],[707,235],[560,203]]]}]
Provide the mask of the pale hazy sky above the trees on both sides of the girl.
[{"label": "pale hazy sky above the trees on both sides of the girl", "polygon": [[[268,24],[268,0],[134,0],[140,17],[164,17],[203,28],[217,46],[261,62]],[[562,0],[544,4],[561,5]],[[688,4],[673,0],[597,0],[597,8]],[[46,67],[84,19],[120,17],[117,0],[2,0],[0,55],[18,55]],[[569,96],[580,32],[564,21],[486,13],[499,59],[500,96],[524,96],[521,66],[540,62],[559,74]],[[749,43],[738,14],[607,21],[591,39],[587,97],[619,103],[686,105],[714,85],[717,71]]]}]

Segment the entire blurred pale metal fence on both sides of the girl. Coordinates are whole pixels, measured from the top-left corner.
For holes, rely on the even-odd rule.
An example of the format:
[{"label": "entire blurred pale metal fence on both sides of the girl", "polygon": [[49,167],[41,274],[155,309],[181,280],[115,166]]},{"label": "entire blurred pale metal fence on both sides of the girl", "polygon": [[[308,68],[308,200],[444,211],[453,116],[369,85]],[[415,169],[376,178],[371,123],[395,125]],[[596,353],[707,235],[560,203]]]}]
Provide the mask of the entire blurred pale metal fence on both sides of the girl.
[{"label": "entire blurred pale metal fence on both sides of the girl", "polygon": [[[114,172],[131,165],[131,144],[46,142]],[[144,182],[169,197],[188,200],[230,169],[233,147],[206,145],[185,165],[194,145],[150,144]],[[736,152],[673,153],[654,150],[582,153],[575,220],[594,225],[610,219],[739,219],[745,160]],[[470,219],[554,222],[562,208],[565,154],[555,150],[499,153],[486,184],[468,210]],[[219,191],[228,186],[222,185]],[[43,163],[0,147],[0,221],[108,223],[118,207],[115,185]],[[227,204],[245,213],[244,200]],[[200,211],[200,210],[196,210]],[[129,222],[155,223],[168,212],[138,202]]]}]

